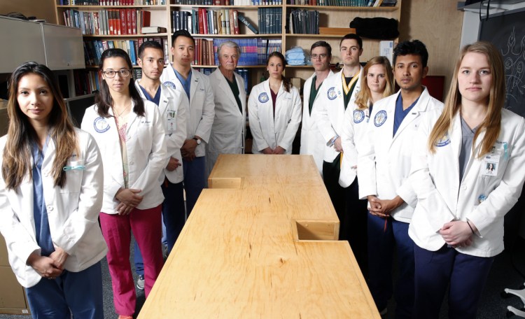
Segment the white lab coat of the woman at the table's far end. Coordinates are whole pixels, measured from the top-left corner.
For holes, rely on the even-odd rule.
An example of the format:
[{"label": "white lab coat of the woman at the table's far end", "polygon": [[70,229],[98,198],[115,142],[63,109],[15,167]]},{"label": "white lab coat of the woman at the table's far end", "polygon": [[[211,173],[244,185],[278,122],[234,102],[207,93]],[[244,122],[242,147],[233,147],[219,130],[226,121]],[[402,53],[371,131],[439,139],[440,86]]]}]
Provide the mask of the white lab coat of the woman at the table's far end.
[{"label": "white lab coat of the woman at the table's far end", "polygon": [[269,80],[251,89],[248,98],[248,120],[253,136],[253,154],[261,154],[265,148],[281,146],[285,154],[292,153],[292,143],[301,122],[301,98],[296,87],[290,92],[281,83],[275,100],[275,118]]}]

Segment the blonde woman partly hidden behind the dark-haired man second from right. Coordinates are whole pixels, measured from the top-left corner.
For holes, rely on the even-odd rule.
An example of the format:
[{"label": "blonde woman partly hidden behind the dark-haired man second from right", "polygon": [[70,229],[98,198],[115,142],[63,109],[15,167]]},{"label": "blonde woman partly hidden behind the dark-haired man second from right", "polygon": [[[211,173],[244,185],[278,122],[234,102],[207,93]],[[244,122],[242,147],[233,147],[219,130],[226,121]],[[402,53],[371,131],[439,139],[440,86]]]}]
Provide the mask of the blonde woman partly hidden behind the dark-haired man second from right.
[{"label": "blonde woman partly hidden behind the dark-haired man second from right", "polygon": [[363,68],[362,90],[356,100],[344,112],[341,144],[344,150],[341,159],[339,185],[345,189],[346,210],[341,220],[343,238],[349,239],[353,255],[361,272],[368,273],[367,267],[367,201],[359,199],[357,180],[357,147],[365,141],[366,127],[376,101],[389,97],[394,92],[393,73],[386,57],[372,57]]}]

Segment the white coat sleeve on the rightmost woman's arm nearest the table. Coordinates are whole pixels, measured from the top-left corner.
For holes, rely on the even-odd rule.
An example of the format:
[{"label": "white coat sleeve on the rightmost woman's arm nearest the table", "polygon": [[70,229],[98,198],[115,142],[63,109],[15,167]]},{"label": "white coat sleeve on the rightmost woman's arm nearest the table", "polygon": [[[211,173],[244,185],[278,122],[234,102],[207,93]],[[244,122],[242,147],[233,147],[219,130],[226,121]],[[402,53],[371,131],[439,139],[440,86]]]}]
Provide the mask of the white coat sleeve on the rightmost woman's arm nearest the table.
[{"label": "white coat sleeve on the rightmost woman's arm nearest the table", "polygon": [[439,231],[446,223],[454,220],[454,214],[450,211],[440,192],[434,185],[428,169],[428,136],[433,128],[428,113],[423,115],[418,132],[414,136],[414,148],[412,150],[412,162],[409,182],[417,197],[417,213],[424,214],[429,225]]}]

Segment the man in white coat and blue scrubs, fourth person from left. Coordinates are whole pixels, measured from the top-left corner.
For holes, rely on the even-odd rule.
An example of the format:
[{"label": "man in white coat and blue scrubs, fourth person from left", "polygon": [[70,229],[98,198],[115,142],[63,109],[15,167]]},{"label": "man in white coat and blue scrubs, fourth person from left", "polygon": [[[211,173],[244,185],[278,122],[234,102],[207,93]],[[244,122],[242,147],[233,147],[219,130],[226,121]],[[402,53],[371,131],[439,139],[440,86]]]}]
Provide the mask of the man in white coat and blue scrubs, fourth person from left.
[{"label": "man in white coat and blue scrubs, fourth person from left", "polygon": [[186,140],[181,148],[188,216],[206,183],[206,150],[214,122],[214,92],[209,78],[191,67],[195,39],[186,30],[172,35],[173,64],[162,71],[160,81],[179,91],[186,107]]}]

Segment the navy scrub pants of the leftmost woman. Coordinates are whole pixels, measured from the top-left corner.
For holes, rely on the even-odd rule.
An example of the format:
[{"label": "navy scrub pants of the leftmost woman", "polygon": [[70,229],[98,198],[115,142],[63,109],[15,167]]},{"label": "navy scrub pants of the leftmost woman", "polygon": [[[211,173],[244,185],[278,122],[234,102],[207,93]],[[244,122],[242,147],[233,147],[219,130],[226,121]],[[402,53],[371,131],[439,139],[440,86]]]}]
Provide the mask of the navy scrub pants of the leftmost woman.
[{"label": "navy scrub pants of the leftmost woman", "polygon": [[25,288],[34,319],[104,319],[100,262],[79,272],[64,270]]}]

